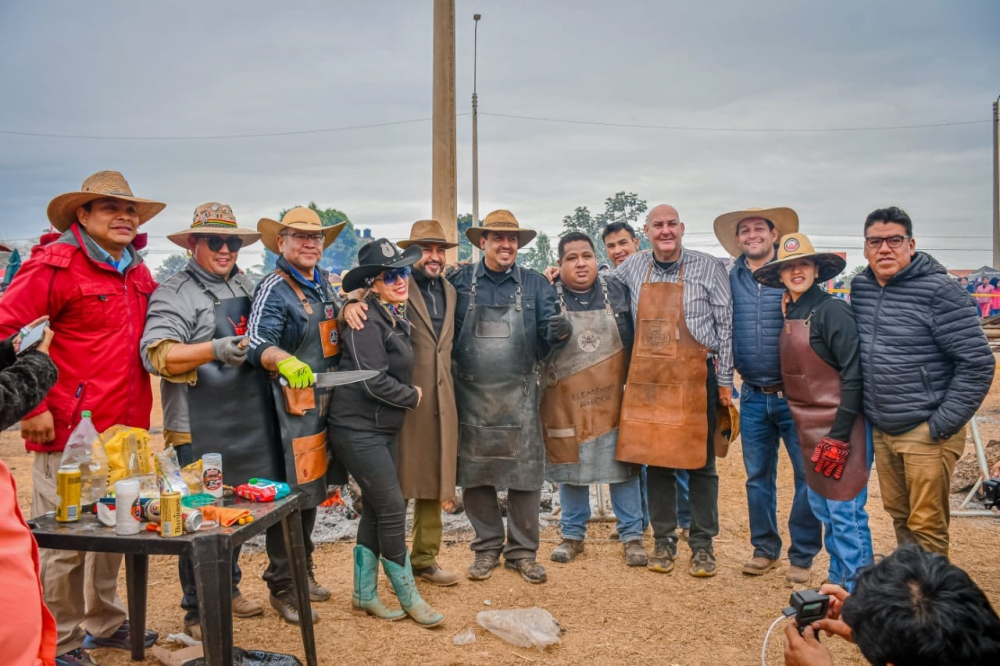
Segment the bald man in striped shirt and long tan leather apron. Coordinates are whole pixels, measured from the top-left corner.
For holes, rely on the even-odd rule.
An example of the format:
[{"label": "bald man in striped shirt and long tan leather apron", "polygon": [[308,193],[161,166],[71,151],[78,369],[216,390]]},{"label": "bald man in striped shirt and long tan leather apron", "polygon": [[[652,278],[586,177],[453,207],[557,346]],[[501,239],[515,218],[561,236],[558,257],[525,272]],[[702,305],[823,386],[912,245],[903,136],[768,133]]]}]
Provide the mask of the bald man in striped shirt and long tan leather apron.
[{"label": "bald man in striped shirt and long tan leather apron", "polygon": [[648,465],[655,551],[647,566],[661,573],[677,558],[674,471],[689,470],[689,573],[714,576],[719,476],[712,434],[716,409],[732,403],[733,387],[729,279],[718,259],[683,247],[684,223],[673,206],[650,210],[644,231],[653,251],[611,271],[629,288],[636,329],[618,460]]}]

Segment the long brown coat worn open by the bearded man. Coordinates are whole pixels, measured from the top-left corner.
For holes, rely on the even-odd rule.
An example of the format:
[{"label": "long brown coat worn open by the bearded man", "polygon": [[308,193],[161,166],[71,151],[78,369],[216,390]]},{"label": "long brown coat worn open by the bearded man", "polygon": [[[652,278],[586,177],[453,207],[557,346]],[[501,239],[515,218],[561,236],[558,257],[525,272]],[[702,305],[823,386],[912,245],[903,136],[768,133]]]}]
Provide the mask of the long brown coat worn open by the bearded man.
[{"label": "long brown coat worn open by the bearded man", "polygon": [[441,284],[445,314],[438,339],[420,288],[410,278],[413,384],[424,395],[417,408],[406,413],[399,433],[399,485],[408,499],[446,500],[455,496],[458,412],[451,378],[451,345],[456,297],[447,280],[442,279]]}]

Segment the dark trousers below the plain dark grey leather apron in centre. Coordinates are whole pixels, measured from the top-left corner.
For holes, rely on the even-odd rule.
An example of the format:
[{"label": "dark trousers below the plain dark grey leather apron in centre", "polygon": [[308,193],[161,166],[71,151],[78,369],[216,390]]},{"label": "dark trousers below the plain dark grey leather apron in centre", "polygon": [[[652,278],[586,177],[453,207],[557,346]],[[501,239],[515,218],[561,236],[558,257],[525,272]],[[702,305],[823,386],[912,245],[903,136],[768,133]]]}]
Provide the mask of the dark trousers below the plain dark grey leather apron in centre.
[{"label": "dark trousers below the plain dark grey leather apron in centre", "polygon": [[476,538],[471,548],[477,553],[500,555],[505,559],[533,558],[538,552],[538,511],[541,490],[507,491],[507,543],[504,544],[503,516],[497,490],[493,486],[462,489],[465,514],[472,523]]}]

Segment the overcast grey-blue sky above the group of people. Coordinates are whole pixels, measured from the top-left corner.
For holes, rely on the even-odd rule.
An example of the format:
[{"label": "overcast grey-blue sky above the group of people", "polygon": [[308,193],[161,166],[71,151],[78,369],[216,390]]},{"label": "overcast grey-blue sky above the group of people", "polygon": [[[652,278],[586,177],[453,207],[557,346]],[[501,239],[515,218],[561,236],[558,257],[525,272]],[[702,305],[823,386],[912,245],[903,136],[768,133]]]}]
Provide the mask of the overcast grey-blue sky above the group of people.
[{"label": "overcast grey-blue sky above the group of people", "polygon": [[[677,207],[685,244],[722,254],[713,219],[795,208],[825,249],[860,248],[899,205],[918,248],[955,268],[991,255],[991,103],[1000,3],[457,0],[457,106],[470,107],[473,13],[480,211],[558,233],[620,190]],[[102,137],[258,134],[427,119],[432,3],[0,0],[0,131]],[[458,118],[459,212],[471,211],[471,122]],[[45,207],[101,169],[166,202],[149,261],[195,206],[243,226],[315,201],[391,238],[430,215],[431,124],[220,140],[0,133],[0,239],[36,236]],[[259,246],[258,246],[259,247]],[[960,249],[967,248],[967,249]],[[241,263],[256,263],[245,256]],[[852,251],[849,265],[860,263]]]}]

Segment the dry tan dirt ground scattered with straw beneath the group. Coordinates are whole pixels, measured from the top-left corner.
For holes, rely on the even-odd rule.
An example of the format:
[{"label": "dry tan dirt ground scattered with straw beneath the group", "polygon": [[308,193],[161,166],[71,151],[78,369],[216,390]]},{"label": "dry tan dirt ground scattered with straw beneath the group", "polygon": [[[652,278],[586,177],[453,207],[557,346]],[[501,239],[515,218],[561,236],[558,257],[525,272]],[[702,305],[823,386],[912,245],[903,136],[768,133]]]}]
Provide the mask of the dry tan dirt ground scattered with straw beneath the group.
[{"label": "dry tan dirt ground scattered with straw beneath the group", "polygon": [[[157,396],[158,399],[158,396]],[[159,403],[154,406],[154,432],[159,432]],[[1000,380],[980,410],[984,440],[1000,439]],[[156,444],[161,439],[156,438]],[[967,451],[971,451],[971,439]],[[0,434],[0,457],[11,468],[19,485],[22,507],[30,505],[31,458],[25,454],[14,430]],[[992,462],[992,461],[991,461]],[[333,590],[333,598],[316,604],[320,622],[316,640],[321,664],[349,661],[368,664],[757,664],[761,644],[771,622],[788,604],[791,592],[784,580],[787,560],[763,577],[740,573],[751,556],[747,519],[745,474],[738,445],[718,461],[720,477],[720,534],[716,539],[719,575],[696,579],[683,566],[689,553],[681,546],[681,560],[674,572],[662,575],[629,568],[617,542],[608,541],[612,523],[592,523],[587,550],[574,562],[559,565],[549,561],[558,543],[558,530],[543,532],[539,561],[546,565],[549,580],[529,585],[503,568],[484,582],[464,577],[457,586],[435,588],[421,584],[421,594],[446,620],[436,629],[421,629],[413,622],[380,622],[351,610],[352,541],[323,544],[317,548],[317,578]],[[791,499],[791,468],[786,459],[779,468],[779,522],[787,517]],[[961,500],[953,496],[953,504]],[[882,510],[878,482],[873,473],[869,484],[868,509],[876,553],[895,547],[891,521]],[[787,530],[782,528],[787,543]],[[1000,577],[996,575],[996,544],[1000,519],[955,518],[952,521],[952,559],[986,591],[1000,607]],[[446,535],[439,563],[463,573],[472,556],[467,532]],[[647,547],[651,539],[647,535]],[[267,649],[303,657],[299,631],[278,619],[267,603],[261,574],[267,566],[262,553],[244,555],[243,594],[265,606],[263,616],[234,620],[235,643],[247,649]],[[819,585],[827,566],[825,552],[816,559],[812,586]],[[149,572],[148,622],[160,633],[161,644],[169,633],[180,633],[182,612],[178,606],[180,586],[173,558],[153,557]],[[393,600],[380,579],[384,599]],[[119,592],[125,596],[124,569]],[[476,624],[482,610],[538,606],[550,611],[565,629],[562,644],[545,652],[515,647]],[[456,634],[474,627],[476,641],[453,644]],[[779,629],[780,629],[779,625]],[[780,664],[783,637],[776,630],[768,649],[768,663]],[[837,639],[825,641],[838,664],[865,663],[853,646]],[[126,652],[97,650],[95,658],[105,665],[131,663]],[[147,657],[143,663],[157,664]]]}]

